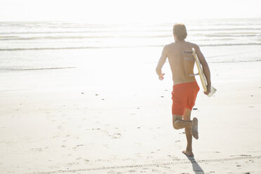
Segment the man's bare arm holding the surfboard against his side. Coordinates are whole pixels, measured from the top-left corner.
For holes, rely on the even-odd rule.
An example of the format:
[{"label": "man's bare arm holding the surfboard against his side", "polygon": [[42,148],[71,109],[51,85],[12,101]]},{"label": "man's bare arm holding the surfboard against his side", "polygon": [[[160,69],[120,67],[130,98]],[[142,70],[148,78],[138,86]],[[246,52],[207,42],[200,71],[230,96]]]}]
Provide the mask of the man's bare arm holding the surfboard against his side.
[{"label": "man's bare arm holding the surfboard against his side", "polygon": [[196,55],[199,58],[199,62],[202,65],[203,73],[206,76],[206,80],[207,80],[208,86],[207,86],[207,91],[205,92],[205,94],[208,95],[208,93],[210,93],[210,89],[211,89],[210,69],[208,67],[208,62],[206,62],[206,59],[205,59],[203,53],[201,53],[201,50],[200,50],[199,46],[194,45],[194,49],[196,51]]}]

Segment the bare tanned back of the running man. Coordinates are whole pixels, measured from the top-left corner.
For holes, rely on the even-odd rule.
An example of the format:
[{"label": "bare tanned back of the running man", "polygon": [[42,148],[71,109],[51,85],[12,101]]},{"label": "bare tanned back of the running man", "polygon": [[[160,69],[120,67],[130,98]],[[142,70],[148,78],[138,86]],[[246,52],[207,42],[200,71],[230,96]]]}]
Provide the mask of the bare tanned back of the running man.
[{"label": "bare tanned back of the running man", "polygon": [[170,64],[170,69],[173,75],[173,84],[188,83],[196,81],[194,76],[194,63],[195,60],[191,53],[194,44],[180,41],[166,46],[166,55]]}]

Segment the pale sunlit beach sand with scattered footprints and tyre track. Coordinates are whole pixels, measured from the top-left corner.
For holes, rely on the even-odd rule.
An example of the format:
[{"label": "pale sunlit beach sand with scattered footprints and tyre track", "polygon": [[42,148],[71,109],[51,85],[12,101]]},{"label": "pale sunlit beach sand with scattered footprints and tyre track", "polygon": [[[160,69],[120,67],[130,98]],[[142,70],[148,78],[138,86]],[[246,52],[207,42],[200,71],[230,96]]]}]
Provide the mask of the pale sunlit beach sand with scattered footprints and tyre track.
[{"label": "pale sunlit beach sand with scattered footprints and tyre track", "polygon": [[192,159],[168,66],[164,81],[156,63],[1,72],[0,173],[261,173],[261,62],[209,66]]}]

